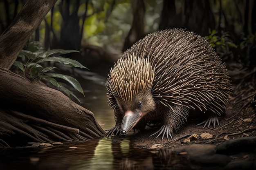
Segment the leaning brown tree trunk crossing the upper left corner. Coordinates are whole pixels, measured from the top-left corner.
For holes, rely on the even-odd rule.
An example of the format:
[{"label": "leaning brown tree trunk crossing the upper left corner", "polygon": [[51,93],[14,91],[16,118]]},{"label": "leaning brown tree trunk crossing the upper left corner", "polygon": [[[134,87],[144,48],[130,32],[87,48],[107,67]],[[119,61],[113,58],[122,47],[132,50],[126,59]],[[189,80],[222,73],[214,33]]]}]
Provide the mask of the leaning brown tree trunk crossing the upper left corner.
[{"label": "leaning brown tree trunk crossing the upper left corner", "polygon": [[10,68],[18,54],[57,0],[28,0],[0,36],[0,67]]}]

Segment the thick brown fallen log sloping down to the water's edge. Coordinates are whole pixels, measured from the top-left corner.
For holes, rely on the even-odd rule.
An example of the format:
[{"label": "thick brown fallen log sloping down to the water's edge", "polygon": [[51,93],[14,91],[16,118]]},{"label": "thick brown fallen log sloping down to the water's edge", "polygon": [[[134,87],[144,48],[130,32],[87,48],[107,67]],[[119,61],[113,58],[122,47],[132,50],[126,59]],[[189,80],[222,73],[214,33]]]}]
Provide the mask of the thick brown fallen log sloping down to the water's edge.
[{"label": "thick brown fallen log sloping down to the water's edge", "polygon": [[[29,126],[26,125],[27,128],[29,127],[29,130],[27,130],[28,134],[39,133],[36,132],[35,128],[31,128],[31,124],[41,127],[57,126],[60,129],[59,132],[72,132],[73,135],[77,133],[83,139],[102,137],[105,134],[104,130],[94,119],[92,112],[72,102],[60,91],[35,81],[29,81],[4,68],[0,68],[0,84],[0,103],[3,109],[0,112],[1,119],[4,116],[10,117],[14,115],[15,117],[22,118],[23,121],[29,121]],[[2,121],[1,119],[0,134],[6,134],[10,129],[11,131],[19,132],[16,130],[17,126],[23,127],[21,124],[15,125],[17,121],[13,118]],[[6,126],[7,122],[11,126],[15,126],[15,128],[8,128],[11,126]],[[18,129],[22,129],[21,127]],[[36,136],[33,135],[35,138]],[[75,139],[72,135],[69,137],[70,139]],[[51,139],[48,141],[51,141]]]}]

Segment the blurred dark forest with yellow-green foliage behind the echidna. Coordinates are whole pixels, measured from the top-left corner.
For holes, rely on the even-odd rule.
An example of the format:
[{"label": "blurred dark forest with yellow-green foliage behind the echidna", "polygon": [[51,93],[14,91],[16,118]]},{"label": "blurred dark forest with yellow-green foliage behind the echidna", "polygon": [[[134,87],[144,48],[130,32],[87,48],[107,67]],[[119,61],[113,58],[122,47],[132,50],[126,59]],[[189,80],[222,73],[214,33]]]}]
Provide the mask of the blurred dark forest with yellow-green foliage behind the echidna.
[{"label": "blurred dark forest with yellow-green foliage behind the echidna", "polygon": [[[25,2],[0,2],[0,33]],[[253,16],[254,0],[58,0],[29,42],[38,41],[45,50],[96,51],[98,57],[112,62],[148,33],[182,28],[207,38],[224,62],[252,68]],[[85,53],[73,58],[86,66]]]}]

